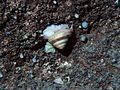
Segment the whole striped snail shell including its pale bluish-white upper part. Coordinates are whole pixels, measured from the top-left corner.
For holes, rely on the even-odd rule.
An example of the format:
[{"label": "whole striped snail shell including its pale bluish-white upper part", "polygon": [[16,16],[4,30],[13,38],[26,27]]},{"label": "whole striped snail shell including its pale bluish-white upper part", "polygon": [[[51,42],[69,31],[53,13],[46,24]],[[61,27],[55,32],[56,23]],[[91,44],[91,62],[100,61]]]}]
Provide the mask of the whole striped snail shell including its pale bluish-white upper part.
[{"label": "whole striped snail shell including its pale bluish-white upper part", "polygon": [[43,36],[54,47],[64,49],[72,31],[68,24],[50,25],[43,31]]}]

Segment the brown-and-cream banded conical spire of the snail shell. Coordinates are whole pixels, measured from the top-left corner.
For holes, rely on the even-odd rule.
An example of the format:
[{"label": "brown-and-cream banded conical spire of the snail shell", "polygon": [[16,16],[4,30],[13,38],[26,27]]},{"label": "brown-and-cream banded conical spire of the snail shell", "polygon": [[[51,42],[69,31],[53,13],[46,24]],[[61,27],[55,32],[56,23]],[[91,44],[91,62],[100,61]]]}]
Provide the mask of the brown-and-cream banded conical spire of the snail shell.
[{"label": "brown-and-cream banded conical spire of the snail shell", "polygon": [[63,49],[68,41],[68,38],[71,36],[71,31],[67,29],[59,30],[55,32],[48,41],[53,44],[58,49]]}]

